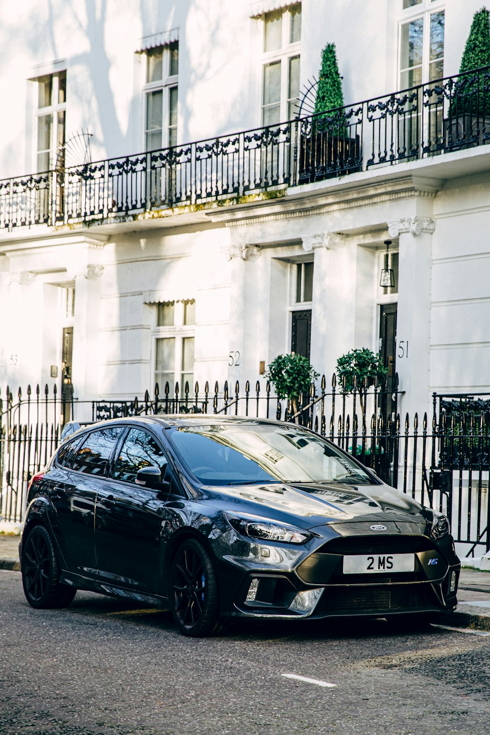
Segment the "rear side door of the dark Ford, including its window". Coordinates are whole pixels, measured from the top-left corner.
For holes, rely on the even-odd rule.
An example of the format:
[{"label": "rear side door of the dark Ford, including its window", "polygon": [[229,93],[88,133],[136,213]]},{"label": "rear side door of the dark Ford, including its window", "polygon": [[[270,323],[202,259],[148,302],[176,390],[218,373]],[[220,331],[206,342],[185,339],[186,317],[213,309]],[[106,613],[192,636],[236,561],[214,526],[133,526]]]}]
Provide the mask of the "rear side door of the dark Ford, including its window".
[{"label": "rear side door of the dark Ford, including its window", "polygon": [[68,571],[94,576],[96,497],[122,427],[84,434],[62,448],[48,490],[54,506],[51,522]]}]

